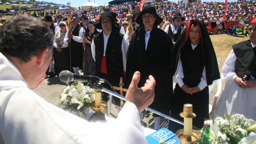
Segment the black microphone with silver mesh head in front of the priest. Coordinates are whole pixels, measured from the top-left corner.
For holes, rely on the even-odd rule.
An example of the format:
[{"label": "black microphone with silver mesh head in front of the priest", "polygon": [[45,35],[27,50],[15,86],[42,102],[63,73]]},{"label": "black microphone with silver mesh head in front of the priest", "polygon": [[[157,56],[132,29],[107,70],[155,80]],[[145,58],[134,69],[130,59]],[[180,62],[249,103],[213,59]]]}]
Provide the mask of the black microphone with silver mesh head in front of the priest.
[{"label": "black microphone with silver mesh head in front of the priest", "polygon": [[82,81],[82,82],[94,82],[94,83],[105,83],[105,79],[100,79],[99,77],[95,76],[87,76],[87,75],[80,75],[80,74],[74,74],[68,70],[63,70],[59,74],[59,79],[64,82],[70,82],[70,81]]}]

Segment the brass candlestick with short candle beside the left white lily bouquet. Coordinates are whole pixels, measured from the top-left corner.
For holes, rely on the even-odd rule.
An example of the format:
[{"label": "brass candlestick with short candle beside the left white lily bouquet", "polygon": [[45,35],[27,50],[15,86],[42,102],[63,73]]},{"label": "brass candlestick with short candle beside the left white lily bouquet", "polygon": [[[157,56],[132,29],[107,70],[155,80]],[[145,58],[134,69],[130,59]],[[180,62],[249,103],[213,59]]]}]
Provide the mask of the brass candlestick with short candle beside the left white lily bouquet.
[{"label": "brass candlestick with short candle beside the left white lily bouquet", "polygon": [[[100,95],[100,99],[101,99],[101,91],[98,91],[95,89],[95,97],[96,95]],[[90,108],[95,111],[95,113],[93,113],[90,118],[88,119],[88,121],[90,120],[106,120],[104,113],[102,113],[102,111],[105,109],[105,107],[108,105],[108,103],[104,102],[104,101],[100,101],[100,104],[96,104],[98,102],[92,102],[90,104]],[[95,105],[96,104],[96,105]]]}]

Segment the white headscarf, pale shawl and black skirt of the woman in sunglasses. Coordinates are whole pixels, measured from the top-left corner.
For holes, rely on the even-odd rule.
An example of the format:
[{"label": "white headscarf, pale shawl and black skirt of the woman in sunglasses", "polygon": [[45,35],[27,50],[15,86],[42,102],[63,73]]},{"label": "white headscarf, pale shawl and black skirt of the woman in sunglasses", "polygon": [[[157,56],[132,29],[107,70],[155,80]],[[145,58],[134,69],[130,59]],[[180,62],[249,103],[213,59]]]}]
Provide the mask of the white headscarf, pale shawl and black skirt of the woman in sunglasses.
[{"label": "white headscarf, pale shawl and black skirt of the woman in sunglasses", "polygon": [[[70,49],[68,47],[67,41],[64,40],[67,33],[67,24],[65,22],[60,22],[61,25],[66,26],[65,32],[61,32],[61,29],[57,31],[54,35],[54,70],[55,74],[58,76],[63,70],[70,70]],[[57,51],[57,47],[61,46],[61,51]]]}]

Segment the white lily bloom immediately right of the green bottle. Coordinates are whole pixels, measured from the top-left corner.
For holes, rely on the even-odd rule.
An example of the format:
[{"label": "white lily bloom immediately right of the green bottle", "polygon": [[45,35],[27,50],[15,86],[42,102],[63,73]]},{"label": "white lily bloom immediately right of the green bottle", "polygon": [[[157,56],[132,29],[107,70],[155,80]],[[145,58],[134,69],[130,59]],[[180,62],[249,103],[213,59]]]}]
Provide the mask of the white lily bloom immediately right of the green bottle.
[{"label": "white lily bloom immediately right of the green bottle", "polygon": [[215,123],[213,124],[212,120],[210,121],[210,137],[211,139],[215,140],[216,138],[218,138],[219,136],[226,141],[227,140],[227,136],[226,134],[222,134],[220,131],[220,127],[219,127],[220,121],[215,121]]}]

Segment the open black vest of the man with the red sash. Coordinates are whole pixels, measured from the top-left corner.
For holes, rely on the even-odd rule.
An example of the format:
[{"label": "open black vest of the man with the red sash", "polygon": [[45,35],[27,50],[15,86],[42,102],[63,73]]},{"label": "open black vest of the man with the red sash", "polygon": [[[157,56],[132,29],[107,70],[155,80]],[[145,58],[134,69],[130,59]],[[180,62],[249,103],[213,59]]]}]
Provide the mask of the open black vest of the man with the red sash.
[{"label": "open black vest of the man with the red sash", "polygon": [[[106,47],[106,66],[108,74],[116,74],[117,77],[123,76],[123,59],[122,59],[122,40],[123,34],[112,30]],[[103,31],[94,36],[95,44],[95,62],[96,70],[100,71],[101,60],[104,53]]]}]

